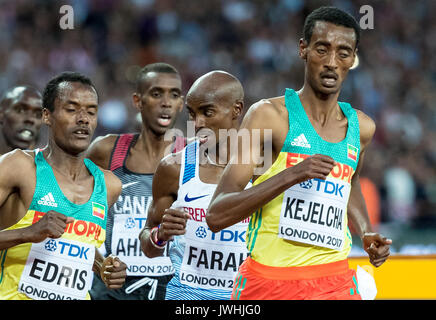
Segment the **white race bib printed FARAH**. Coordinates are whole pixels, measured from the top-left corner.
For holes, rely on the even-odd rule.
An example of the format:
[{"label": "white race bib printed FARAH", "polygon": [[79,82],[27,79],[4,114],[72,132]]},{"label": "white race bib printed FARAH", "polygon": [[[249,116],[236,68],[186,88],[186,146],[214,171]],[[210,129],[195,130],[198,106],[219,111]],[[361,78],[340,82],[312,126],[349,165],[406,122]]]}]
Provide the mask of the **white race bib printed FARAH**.
[{"label": "white race bib printed FARAH", "polygon": [[213,233],[206,222],[188,220],[180,282],[194,288],[232,290],[239,266],[247,258],[248,223]]}]

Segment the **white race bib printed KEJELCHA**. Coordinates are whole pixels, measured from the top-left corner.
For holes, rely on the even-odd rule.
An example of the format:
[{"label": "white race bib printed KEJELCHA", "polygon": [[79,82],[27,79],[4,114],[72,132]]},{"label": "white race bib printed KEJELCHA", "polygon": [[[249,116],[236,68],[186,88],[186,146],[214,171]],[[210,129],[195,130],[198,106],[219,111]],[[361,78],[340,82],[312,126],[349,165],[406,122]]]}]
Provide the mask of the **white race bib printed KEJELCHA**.
[{"label": "white race bib printed KEJELCHA", "polygon": [[278,236],[340,251],[350,184],[340,179],[311,179],[284,192]]}]

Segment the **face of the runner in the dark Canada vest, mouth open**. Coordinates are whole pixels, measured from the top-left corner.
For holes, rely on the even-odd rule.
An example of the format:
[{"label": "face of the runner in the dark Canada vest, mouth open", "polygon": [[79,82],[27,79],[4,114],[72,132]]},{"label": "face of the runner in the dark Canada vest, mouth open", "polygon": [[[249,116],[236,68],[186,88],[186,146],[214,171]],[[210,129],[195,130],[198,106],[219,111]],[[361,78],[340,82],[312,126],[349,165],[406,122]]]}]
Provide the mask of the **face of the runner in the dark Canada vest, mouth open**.
[{"label": "face of the runner in the dark Canada vest, mouth open", "polygon": [[164,135],[174,126],[177,114],[182,111],[182,81],[174,73],[149,72],[142,83],[142,93],[133,95],[143,125],[158,135]]}]

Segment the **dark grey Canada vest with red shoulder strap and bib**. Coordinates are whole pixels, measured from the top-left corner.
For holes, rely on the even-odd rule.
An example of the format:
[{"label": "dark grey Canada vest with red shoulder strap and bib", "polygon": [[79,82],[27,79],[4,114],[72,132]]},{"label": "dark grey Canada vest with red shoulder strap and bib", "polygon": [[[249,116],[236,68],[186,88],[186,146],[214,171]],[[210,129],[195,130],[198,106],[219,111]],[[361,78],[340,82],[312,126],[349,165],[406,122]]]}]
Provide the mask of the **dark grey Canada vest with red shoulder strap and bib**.
[{"label": "dark grey Canada vest with red shoulder strap and bib", "polygon": [[[110,170],[121,180],[122,190],[117,202],[109,209],[106,252],[102,251],[102,254],[114,254],[126,263],[126,282],[119,290],[108,290],[101,280],[96,278],[91,292],[93,299],[109,299],[108,295],[117,299],[142,299],[145,295],[149,300],[153,300],[156,290],[157,298],[160,295],[155,277],[162,279],[166,285],[169,279],[164,276],[174,273],[166,251],[164,256],[151,259],[141,250],[138,235],[146,224],[148,207],[152,201],[153,174],[132,172],[126,167],[130,148],[138,137],[139,134],[119,135],[109,163]],[[182,140],[176,139],[173,148],[182,149],[185,145]],[[140,288],[141,290],[137,291]],[[163,297],[164,294],[161,298]]]}]

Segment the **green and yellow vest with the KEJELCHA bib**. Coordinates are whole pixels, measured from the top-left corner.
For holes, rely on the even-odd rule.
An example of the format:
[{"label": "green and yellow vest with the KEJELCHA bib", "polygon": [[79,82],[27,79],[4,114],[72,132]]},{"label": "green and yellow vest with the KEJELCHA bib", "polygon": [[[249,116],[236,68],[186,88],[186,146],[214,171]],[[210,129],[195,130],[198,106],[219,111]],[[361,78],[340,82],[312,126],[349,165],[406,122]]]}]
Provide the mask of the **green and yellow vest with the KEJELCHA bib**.
[{"label": "green and yellow vest with the KEJELCHA bib", "polygon": [[298,94],[286,89],[289,131],[282,150],[257,185],[314,154],[331,156],[337,165],[326,180],[310,179],[294,185],[257,210],[250,219],[247,247],[264,265],[291,267],[346,259],[351,250],[347,203],[351,179],[360,154],[356,111],[338,102],[348,120],[345,139],[323,140],[313,128]]}]

